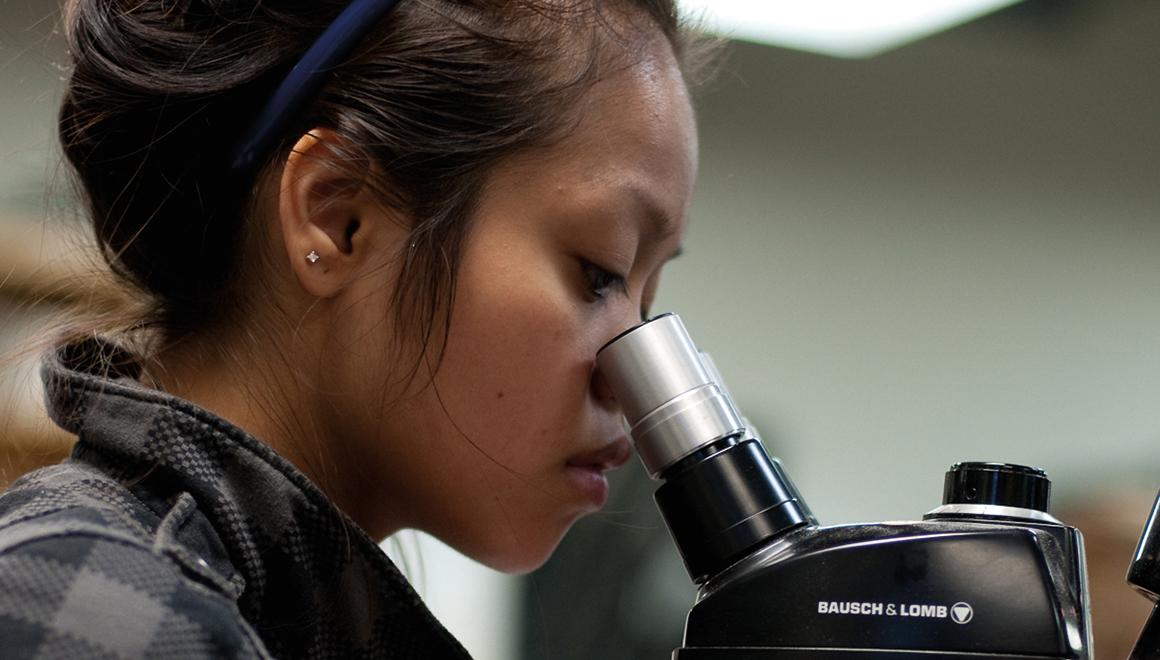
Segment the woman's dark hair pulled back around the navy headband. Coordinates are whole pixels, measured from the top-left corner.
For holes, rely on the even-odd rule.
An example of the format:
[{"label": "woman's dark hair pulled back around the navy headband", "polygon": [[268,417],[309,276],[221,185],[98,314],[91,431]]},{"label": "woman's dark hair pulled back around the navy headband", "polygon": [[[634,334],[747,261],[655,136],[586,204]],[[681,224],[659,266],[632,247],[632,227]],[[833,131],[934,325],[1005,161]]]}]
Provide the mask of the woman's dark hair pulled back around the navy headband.
[{"label": "woman's dark hair pulled back around the navy headband", "polygon": [[[60,139],[104,260],[151,300],[142,325],[181,333],[238,303],[261,174],[232,179],[233,150],[347,3],[68,2]],[[660,30],[679,59],[687,50],[672,0],[403,0],[331,72],[266,169],[312,128],[350,146],[350,172],[415,220],[396,327],[428,336],[486,174],[567,129],[599,75],[597,34],[625,21],[630,38]]]}]

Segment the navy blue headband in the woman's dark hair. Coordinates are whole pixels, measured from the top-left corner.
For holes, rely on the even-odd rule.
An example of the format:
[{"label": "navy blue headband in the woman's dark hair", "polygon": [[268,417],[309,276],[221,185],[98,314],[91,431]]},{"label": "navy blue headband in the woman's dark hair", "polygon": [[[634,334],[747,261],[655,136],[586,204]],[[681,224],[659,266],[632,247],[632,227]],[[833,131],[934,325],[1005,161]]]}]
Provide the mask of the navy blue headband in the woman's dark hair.
[{"label": "navy blue headband in the woman's dark hair", "polygon": [[354,0],[293,65],[246,132],[233,154],[234,176],[249,176],[258,162],[282,139],[329,72],[342,63],[398,0]]}]

